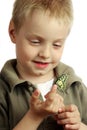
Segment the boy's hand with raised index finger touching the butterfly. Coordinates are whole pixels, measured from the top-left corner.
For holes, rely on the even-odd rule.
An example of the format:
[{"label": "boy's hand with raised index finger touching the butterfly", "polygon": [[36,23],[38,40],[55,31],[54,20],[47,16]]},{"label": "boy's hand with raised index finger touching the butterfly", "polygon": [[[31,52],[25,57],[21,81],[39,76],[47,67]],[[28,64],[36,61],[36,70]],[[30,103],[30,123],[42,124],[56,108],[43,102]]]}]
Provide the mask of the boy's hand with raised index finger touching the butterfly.
[{"label": "boy's hand with raised index finger touching the butterfly", "polygon": [[50,114],[55,114],[63,106],[63,98],[56,92],[57,86],[54,85],[50,92],[45,95],[46,100],[39,99],[40,92],[35,90],[30,100],[30,111],[33,115],[45,118]]}]

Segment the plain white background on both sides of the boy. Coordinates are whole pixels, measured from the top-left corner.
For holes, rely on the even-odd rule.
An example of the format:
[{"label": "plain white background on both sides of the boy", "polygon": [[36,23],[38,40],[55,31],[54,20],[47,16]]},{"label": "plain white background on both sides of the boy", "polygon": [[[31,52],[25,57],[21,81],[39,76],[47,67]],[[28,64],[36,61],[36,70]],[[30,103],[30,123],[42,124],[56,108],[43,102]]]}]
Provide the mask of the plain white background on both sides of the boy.
[{"label": "plain white background on both sides of the boy", "polygon": [[[66,41],[62,61],[72,66],[87,86],[87,2],[72,0],[74,6],[74,24]],[[4,63],[15,58],[15,45],[8,35],[14,0],[2,0],[0,3],[0,70]]]}]

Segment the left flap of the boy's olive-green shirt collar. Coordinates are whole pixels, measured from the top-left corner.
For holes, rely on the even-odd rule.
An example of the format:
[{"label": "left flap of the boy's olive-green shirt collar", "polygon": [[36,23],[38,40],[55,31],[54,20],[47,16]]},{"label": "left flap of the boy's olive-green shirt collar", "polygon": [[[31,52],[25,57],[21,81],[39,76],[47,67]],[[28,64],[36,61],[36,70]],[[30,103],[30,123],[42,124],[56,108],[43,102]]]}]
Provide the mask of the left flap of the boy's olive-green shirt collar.
[{"label": "left flap of the boy's olive-green shirt collar", "polygon": [[25,80],[19,79],[16,71],[16,64],[16,59],[9,60],[5,63],[4,67],[1,70],[3,80],[9,83],[11,89],[14,88],[17,84],[25,82]]}]

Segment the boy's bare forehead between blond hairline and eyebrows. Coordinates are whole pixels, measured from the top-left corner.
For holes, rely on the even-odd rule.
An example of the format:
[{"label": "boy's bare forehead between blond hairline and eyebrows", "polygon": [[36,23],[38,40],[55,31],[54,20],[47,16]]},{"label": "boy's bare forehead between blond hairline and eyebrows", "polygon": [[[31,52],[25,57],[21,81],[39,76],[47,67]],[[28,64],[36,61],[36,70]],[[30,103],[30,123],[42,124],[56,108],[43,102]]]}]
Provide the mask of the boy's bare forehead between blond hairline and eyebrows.
[{"label": "boy's bare forehead between blond hairline and eyebrows", "polygon": [[35,10],[32,15],[26,17],[22,26],[27,33],[38,34],[45,37],[67,35],[69,25],[65,25],[58,18],[50,17],[49,12]]}]

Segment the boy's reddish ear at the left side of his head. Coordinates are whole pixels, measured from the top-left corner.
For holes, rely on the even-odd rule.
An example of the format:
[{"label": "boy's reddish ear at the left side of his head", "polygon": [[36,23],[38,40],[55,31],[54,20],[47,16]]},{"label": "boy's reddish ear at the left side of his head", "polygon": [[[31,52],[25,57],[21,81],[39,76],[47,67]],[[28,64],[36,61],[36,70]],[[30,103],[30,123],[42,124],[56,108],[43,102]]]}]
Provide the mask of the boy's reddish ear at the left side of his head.
[{"label": "boy's reddish ear at the left side of his head", "polygon": [[15,31],[14,22],[12,20],[9,23],[8,32],[9,32],[9,36],[10,36],[11,41],[13,43],[16,43],[16,31]]}]

